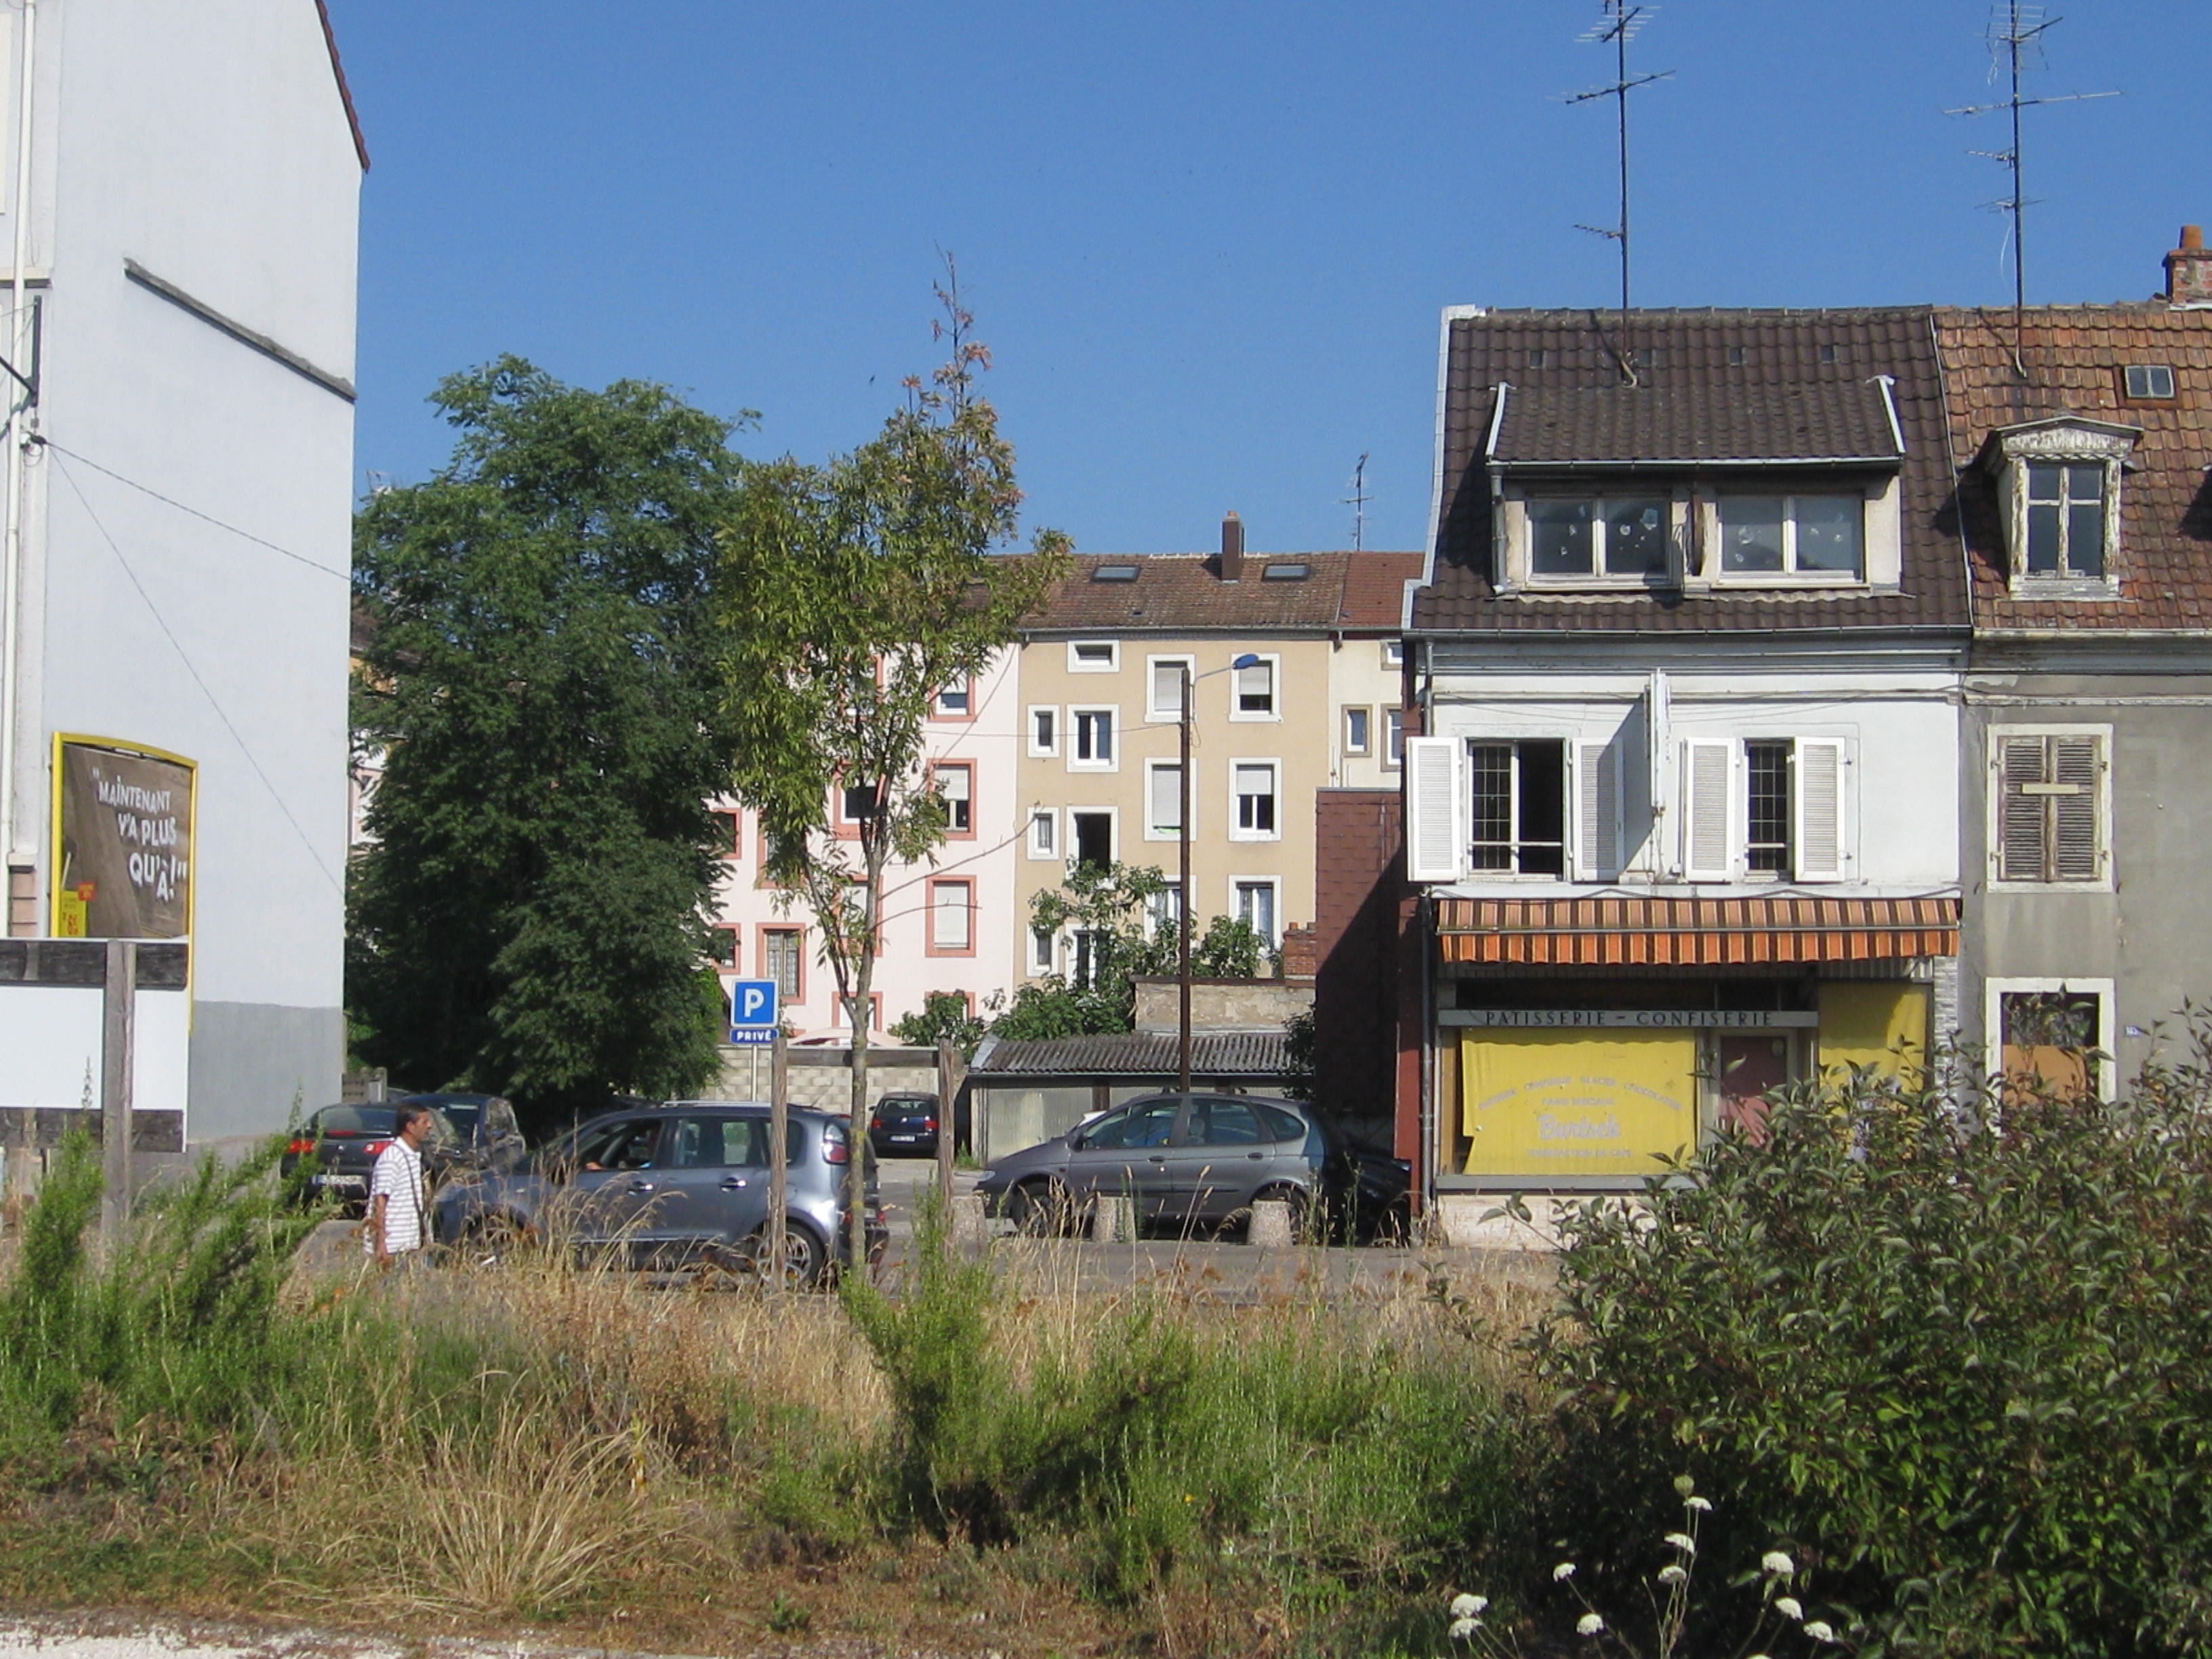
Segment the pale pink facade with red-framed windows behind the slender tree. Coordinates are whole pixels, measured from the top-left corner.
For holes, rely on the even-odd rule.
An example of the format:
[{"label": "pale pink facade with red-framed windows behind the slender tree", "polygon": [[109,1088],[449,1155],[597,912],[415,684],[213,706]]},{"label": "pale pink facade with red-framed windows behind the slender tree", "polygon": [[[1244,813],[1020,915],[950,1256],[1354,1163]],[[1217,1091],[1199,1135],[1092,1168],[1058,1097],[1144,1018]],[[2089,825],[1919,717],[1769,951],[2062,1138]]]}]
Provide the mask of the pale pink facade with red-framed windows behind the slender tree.
[{"label": "pale pink facade with red-framed windows behind the slender tree", "polygon": [[[931,765],[973,768],[973,834],[945,841],[925,865],[891,865],[885,872],[883,953],[876,958],[876,993],[883,1024],[876,1037],[905,1015],[918,1013],[931,991],[964,991],[982,1009],[993,995],[1006,995],[1015,982],[1015,741],[1022,708],[1015,688],[1015,653],[1000,653],[991,670],[971,688],[973,719],[933,719],[927,730]],[[785,1009],[787,1024],[801,1040],[849,1037],[843,1011],[836,1009],[836,980],[821,956],[821,931],[805,905],[781,905],[781,894],[763,887],[761,832],[752,814],[741,814],[743,830],[737,854],[726,860],[717,887],[714,920],[737,929],[737,969],[743,978],[763,978],[763,929],[805,929],[805,973],[801,1000]],[[975,907],[969,914],[971,951],[942,956],[931,951],[929,894],[931,880],[973,880]]]}]

